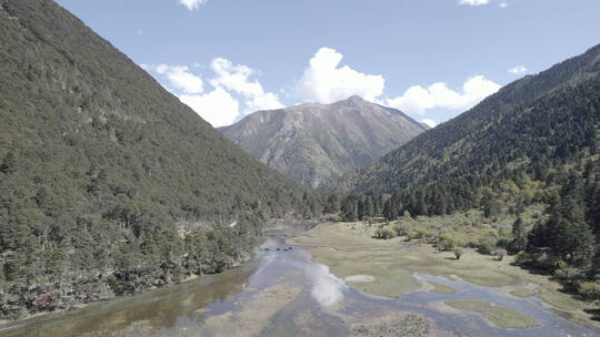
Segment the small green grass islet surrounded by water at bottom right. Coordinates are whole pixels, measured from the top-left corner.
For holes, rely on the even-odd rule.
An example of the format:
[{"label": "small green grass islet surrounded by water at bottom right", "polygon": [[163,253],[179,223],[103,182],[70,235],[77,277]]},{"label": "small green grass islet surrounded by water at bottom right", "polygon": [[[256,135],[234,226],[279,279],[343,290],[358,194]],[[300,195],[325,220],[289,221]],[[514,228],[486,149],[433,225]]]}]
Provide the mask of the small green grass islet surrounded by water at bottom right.
[{"label": "small green grass islet surrounded by water at bottom right", "polygon": [[533,318],[524,314],[484,300],[449,300],[446,304],[456,309],[481,314],[493,325],[506,329],[539,326]]}]

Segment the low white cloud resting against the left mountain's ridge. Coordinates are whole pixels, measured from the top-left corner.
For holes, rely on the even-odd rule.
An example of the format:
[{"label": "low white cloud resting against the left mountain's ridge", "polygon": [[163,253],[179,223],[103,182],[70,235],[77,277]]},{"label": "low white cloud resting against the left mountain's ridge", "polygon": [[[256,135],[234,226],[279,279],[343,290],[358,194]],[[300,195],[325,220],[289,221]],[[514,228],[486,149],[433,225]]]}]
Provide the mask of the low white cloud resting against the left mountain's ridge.
[{"label": "low white cloud resting against the left mountain's ridge", "polygon": [[233,123],[240,110],[238,100],[221,86],[203,95],[181,94],[179,100],[214,127]]}]

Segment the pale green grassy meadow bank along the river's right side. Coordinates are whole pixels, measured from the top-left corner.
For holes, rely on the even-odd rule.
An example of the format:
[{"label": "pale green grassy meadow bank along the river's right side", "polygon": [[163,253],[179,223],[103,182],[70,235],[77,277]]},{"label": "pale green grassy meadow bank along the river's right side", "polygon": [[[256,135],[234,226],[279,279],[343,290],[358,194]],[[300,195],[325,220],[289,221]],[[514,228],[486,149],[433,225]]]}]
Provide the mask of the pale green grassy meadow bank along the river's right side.
[{"label": "pale green grassy meadow bank along the river's right side", "polygon": [[594,309],[591,304],[562,293],[560,284],[548,276],[514,266],[513,256],[498,261],[466,248],[457,259],[451,252],[439,252],[430,244],[407,242],[404,237],[376,239],[377,228],[377,224],[362,222],[328,223],[288,243],[310,246],[312,259],[328,265],[337,277],[371,276],[372,282],[347,282],[369,296],[398,298],[422,287],[416,274],[434,275],[491,287],[509,296],[539,299],[561,316],[600,331],[600,324],[589,314]]}]

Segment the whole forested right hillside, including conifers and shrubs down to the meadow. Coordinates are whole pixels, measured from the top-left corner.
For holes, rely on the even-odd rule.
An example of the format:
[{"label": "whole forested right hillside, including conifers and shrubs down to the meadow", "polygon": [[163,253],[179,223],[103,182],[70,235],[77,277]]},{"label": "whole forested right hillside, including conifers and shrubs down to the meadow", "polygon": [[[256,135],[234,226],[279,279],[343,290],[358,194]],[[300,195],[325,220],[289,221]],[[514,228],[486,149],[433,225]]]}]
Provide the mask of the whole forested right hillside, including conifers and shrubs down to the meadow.
[{"label": "whole forested right hillside, including conifers and shrubs down to the meadow", "polygon": [[[597,45],[507,85],[373,165],[342,177],[339,190],[353,193],[342,200],[341,216],[406,222],[481,213],[474,222],[429,233],[402,226],[381,233],[421,237],[442,249],[457,247],[457,258],[462,246],[484,254],[519,254],[517,264],[552,275],[566,292],[598,300],[599,145]],[[336,193],[329,196],[327,211],[337,210],[336,200]],[[484,227],[494,232],[469,239]]]}]

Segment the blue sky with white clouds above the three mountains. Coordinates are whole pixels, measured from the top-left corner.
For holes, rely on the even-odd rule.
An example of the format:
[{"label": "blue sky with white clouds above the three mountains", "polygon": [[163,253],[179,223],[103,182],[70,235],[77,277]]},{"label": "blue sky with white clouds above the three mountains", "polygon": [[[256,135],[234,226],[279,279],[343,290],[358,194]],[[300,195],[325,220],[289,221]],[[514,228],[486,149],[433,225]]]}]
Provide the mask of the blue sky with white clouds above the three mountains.
[{"label": "blue sky with white clouds above the three mountains", "polygon": [[58,0],[213,126],[358,94],[436,125],[600,43],[599,0]]}]

